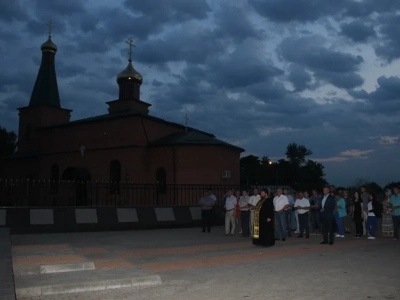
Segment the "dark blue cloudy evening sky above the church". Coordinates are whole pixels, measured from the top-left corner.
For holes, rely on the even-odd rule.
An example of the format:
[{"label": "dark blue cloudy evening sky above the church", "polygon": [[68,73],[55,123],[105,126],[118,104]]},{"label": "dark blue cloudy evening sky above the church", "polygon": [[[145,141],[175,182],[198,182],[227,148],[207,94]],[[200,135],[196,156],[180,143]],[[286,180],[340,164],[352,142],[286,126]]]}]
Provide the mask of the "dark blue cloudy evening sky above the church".
[{"label": "dark blue cloudy evening sky above the church", "polygon": [[[132,36],[151,114],[246,154],[305,144],[337,185],[399,180],[398,0],[14,0],[0,4],[0,123],[16,130],[55,25],[62,106],[107,112]],[[129,129],[126,129],[129,130]]]}]

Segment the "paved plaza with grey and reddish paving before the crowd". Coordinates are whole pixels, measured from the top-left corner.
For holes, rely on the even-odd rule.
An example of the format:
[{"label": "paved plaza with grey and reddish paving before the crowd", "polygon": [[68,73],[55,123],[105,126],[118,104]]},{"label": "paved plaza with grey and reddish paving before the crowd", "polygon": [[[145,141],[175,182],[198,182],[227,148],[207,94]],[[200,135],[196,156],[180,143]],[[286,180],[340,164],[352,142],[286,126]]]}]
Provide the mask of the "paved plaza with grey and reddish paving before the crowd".
[{"label": "paved plaza with grey and reddish paving before the crowd", "polygon": [[17,299],[400,299],[397,241],[311,236],[262,248],[223,232],[13,235]]}]

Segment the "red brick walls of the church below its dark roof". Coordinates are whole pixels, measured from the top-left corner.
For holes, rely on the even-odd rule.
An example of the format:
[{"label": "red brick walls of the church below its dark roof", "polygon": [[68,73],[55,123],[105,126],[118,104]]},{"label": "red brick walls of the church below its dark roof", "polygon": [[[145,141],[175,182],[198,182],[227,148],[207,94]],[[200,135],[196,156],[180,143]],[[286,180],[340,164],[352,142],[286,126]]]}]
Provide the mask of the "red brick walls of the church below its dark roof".
[{"label": "red brick walls of the church below its dark roof", "polygon": [[[215,146],[147,147],[148,140],[182,131],[183,128],[149,119],[142,121],[140,117],[41,130],[37,148],[43,154],[41,158],[6,164],[9,171],[4,173],[7,177],[30,173],[37,179],[50,179],[51,167],[57,164],[60,179],[68,167],[76,167],[87,169],[92,180],[108,181],[111,161],[119,160],[121,178],[124,180],[129,174],[129,181],[136,183],[155,182],[160,167],[166,170],[168,184],[239,183],[237,150]],[[80,153],[82,145],[86,148],[84,156]],[[224,170],[231,171],[231,178],[221,178]]]}]

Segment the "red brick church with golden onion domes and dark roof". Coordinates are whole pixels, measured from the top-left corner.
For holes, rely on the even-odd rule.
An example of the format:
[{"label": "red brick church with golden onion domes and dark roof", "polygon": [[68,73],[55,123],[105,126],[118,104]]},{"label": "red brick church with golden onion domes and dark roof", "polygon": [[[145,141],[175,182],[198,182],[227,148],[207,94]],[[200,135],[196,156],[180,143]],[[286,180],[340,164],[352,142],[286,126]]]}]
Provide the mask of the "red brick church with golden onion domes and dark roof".
[{"label": "red brick church with golden onion domes and dark roof", "polygon": [[70,121],[72,111],[61,106],[57,46],[50,35],[41,50],[29,104],[19,108],[18,150],[0,161],[0,178],[117,185],[123,181],[239,184],[244,150],[213,134],[151,116],[151,104],[140,98],[143,78],[134,69],[131,55],[117,75],[118,99],[107,102],[108,113]]}]

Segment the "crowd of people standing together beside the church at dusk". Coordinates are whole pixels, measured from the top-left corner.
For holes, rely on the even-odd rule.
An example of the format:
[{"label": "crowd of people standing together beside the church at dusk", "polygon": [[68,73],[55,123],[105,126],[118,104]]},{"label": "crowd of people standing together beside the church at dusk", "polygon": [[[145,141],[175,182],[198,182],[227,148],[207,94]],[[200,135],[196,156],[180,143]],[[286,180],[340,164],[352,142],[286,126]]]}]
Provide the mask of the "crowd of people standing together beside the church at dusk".
[{"label": "crowd of people standing together beside the church at dusk", "polygon": [[[334,238],[353,233],[354,238],[377,237],[378,219],[382,219],[382,236],[399,239],[400,193],[399,186],[385,192],[383,201],[368,193],[365,187],[355,191],[336,191],[334,186],[324,187],[311,194],[288,189],[277,189],[272,195],[267,189],[254,189],[251,196],[246,190],[229,190],[224,195],[225,234],[250,237],[257,245],[272,246],[276,240],[286,241],[323,234],[321,244],[333,245]],[[217,198],[209,191],[200,200],[203,232],[211,231]]]}]

